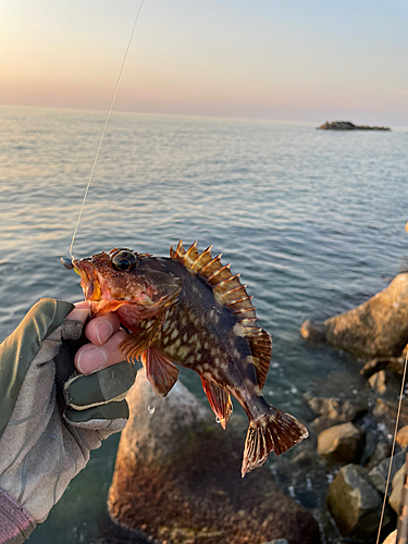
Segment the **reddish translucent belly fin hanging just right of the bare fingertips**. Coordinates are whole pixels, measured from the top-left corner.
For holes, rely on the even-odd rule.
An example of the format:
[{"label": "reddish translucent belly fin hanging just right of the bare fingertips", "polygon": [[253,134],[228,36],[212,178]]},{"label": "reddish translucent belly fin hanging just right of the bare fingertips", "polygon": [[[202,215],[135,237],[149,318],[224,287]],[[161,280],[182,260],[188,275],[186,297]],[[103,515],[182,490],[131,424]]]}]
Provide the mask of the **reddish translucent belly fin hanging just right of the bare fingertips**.
[{"label": "reddish translucent belly fin hanging just right of the bare fingertips", "polygon": [[141,356],[146,378],[158,397],[165,397],[178,378],[178,369],[160,351],[150,347]]}]

